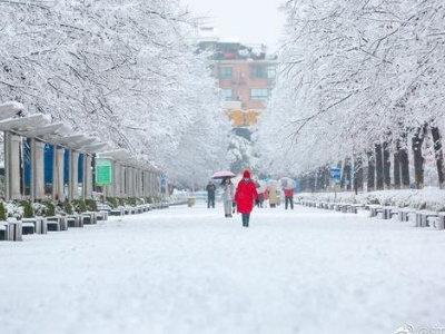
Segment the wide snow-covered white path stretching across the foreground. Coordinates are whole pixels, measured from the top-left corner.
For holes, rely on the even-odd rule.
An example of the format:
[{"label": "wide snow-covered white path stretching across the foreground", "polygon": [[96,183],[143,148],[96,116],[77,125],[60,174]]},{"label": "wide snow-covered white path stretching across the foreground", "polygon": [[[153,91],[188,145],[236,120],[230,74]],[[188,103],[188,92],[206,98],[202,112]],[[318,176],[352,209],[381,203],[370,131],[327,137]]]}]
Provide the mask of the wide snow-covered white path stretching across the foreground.
[{"label": "wide snow-covered white path stretching across the foreground", "polygon": [[0,333],[445,326],[444,232],[299,206],[250,225],[180,206],[0,243]]}]

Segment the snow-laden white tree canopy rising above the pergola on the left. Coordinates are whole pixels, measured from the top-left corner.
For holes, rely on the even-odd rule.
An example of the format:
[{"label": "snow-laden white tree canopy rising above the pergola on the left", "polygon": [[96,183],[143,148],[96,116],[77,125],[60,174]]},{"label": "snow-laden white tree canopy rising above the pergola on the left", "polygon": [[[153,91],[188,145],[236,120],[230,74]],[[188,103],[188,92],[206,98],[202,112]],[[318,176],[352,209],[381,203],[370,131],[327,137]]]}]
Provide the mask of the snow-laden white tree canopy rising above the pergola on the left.
[{"label": "snow-laden white tree canopy rising above the pergola on the left", "polygon": [[188,38],[194,20],[177,0],[1,1],[0,100],[49,114],[167,175],[196,153],[211,166],[227,127]]}]

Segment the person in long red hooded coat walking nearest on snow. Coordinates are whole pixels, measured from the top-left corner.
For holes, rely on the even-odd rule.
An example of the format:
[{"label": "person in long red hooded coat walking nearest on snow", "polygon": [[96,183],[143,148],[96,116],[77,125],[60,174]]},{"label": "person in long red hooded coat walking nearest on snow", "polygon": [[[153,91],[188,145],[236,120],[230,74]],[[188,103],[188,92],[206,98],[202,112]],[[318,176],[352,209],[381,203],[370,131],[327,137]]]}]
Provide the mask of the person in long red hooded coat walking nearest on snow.
[{"label": "person in long red hooded coat walking nearest on snow", "polygon": [[258,203],[258,193],[255,183],[250,179],[250,171],[243,173],[243,179],[238,183],[235,191],[235,203],[238,213],[243,216],[243,226],[249,227],[250,213],[254,208],[254,202]]}]

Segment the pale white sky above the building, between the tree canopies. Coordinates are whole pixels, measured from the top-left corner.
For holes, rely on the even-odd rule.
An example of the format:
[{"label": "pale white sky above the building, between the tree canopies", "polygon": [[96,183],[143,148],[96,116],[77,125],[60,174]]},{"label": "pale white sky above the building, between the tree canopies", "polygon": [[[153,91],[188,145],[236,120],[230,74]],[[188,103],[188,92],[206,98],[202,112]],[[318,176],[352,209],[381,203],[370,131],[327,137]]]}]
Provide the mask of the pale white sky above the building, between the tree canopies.
[{"label": "pale white sky above the building, between the tree canopies", "polygon": [[278,11],[280,0],[181,0],[195,16],[209,17],[221,39],[244,43],[264,43],[275,51],[285,17]]}]

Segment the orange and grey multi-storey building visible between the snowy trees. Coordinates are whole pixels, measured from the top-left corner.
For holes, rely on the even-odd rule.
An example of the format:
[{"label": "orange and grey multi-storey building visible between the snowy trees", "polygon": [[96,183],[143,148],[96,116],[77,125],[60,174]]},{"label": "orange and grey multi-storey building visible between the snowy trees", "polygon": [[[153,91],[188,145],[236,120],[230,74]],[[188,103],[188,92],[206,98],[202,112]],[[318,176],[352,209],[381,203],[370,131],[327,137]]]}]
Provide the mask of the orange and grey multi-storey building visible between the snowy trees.
[{"label": "orange and grey multi-storey building visible between the snowy trees", "polygon": [[211,50],[212,76],[220,88],[225,114],[234,127],[249,127],[266,108],[274,86],[277,62],[265,47],[234,42],[201,42]]}]

